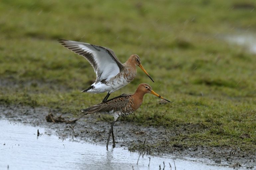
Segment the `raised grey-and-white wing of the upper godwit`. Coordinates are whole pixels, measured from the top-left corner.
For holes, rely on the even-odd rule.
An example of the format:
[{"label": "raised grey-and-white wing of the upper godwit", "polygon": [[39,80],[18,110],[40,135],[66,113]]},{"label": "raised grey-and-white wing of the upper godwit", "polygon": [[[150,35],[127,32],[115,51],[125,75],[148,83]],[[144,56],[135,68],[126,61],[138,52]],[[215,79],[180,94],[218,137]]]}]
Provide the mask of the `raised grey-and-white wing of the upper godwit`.
[{"label": "raised grey-and-white wing of the upper godwit", "polygon": [[64,39],[59,39],[59,42],[88,60],[96,73],[96,82],[108,81],[123,69],[122,63],[116,58],[114,51],[109,48]]}]

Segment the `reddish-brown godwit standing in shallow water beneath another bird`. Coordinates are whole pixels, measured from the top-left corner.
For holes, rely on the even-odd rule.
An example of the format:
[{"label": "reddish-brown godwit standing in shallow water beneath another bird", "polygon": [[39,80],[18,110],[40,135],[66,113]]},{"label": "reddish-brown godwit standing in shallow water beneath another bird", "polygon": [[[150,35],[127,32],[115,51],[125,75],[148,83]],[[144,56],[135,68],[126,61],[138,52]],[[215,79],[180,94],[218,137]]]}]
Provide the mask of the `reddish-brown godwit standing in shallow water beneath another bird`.
[{"label": "reddish-brown godwit standing in shallow water beneath another bird", "polygon": [[169,101],[163,98],[162,96],[160,96],[159,94],[157,94],[155,91],[153,91],[150,85],[146,83],[142,83],[137,87],[137,90],[135,91],[134,94],[122,94],[120,96],[107,100],[106,102],[96,104],[94,106],[88,107],[87,109],[82,109],[81,112],[85,112],[84,115],[93,114],[93,113],[106,113],[114,116],[114,120],[110,126],[110,130],[108,134],[107,148],[108,148],[108,142],[109,142],[111,133],[112,133],[112,139],[113,139],[113,146],[115,146],[115,139],[114,139],[114,133],[113,133],[113,126],[115,121],[119,116],[130,115],[135,110],[137,110],[142,104],[143,96],[146,93],[154,94],[159,98]]}]

